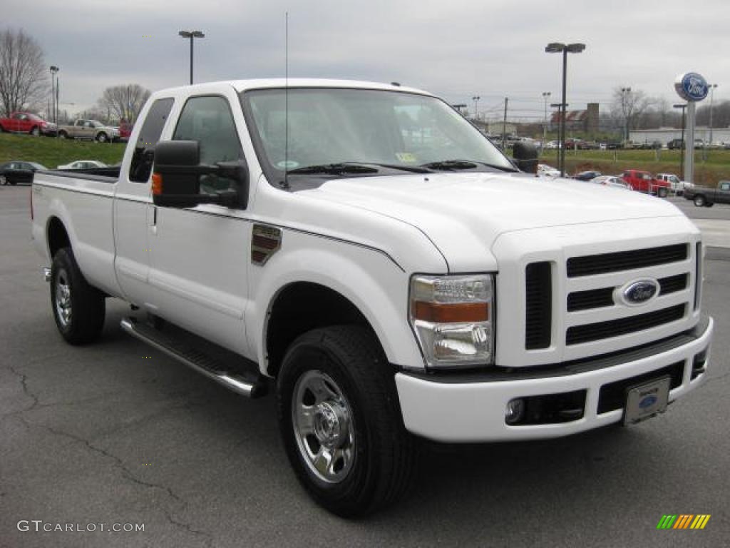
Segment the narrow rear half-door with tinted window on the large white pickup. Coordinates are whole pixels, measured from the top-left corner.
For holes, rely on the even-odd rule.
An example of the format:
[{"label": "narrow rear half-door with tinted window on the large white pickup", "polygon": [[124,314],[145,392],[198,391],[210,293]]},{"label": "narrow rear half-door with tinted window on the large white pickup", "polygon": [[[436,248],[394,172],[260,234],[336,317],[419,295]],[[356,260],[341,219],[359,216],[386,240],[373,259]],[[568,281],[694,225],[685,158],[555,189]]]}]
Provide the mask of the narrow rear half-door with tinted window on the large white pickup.
[{"label": "narrow rear half-door with tinted window on the large white pickup", "polygon": [[[127,300],[155,312],[150,297],[149,234],[153,230],[154,211],[150,192],[152,156],[155,145],[169,119],[174,100],[156,99],[146,115],[120,171],[114,200],[115,270]],[[130,150],[134,148],[131,152]]]}]

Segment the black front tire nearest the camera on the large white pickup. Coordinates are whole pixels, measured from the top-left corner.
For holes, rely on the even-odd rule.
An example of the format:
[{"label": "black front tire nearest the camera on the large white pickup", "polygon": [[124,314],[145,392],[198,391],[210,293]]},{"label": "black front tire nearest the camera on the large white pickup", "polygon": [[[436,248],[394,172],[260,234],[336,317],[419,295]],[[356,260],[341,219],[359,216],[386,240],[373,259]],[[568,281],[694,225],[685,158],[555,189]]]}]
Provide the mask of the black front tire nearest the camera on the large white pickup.
[{"label": "black front tire nearest the camera on the large white pickup", "polygon": [[[347,422],[342,420],[351,430],[341,443],[342,454],[349,447],[351,458],[343,456],[337,472],[335,452],[329,459],[332,465],[321,472],[345,474],[331,482],[318,476],[315,457],[307,457],[304,449],[307,444],[314,452],[312,444],[319,444],[317,428],[313,427],[312,433],[303,438],[298,434],[301,430],[295,427],[298,403],[294,400],[304,394],[304,403],[307,392],[302,392],[301,386],[304,379],[312,376],[325,376],[329,387],[329,381],[334,383],[335,392],[344,397],[345,416],[350,418]],[[310,404],[312,425],[316,425],[318,406],[332,400],[318,403],[315,390],[309,397],[315,398]],[[403,425],[394,372],[377,340],[363,327],[327,327],[297,338],[289,347],[277,378],[277,411],[286,453],[299,482],[328,511],[341,517],[364,516],[395,503],[410,486],[415,468],[414,440]],[[319,448],[326,450],[326,441]]]}]

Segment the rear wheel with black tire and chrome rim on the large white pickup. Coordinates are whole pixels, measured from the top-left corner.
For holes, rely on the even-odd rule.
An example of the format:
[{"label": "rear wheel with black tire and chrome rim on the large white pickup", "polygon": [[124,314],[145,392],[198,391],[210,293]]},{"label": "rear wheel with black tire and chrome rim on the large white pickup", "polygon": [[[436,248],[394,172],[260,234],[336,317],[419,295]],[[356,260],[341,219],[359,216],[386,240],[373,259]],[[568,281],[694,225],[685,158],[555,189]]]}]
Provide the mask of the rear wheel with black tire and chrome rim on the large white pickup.
[{"label": "rear wheel with black tire and chrome rim on the large white pickup", "polygon": [[106,313],[104,294],[88,284],[71,248],[62,248],[53,256],[50,302],[58,332],[67,343],[91,343],[99,338]]}]

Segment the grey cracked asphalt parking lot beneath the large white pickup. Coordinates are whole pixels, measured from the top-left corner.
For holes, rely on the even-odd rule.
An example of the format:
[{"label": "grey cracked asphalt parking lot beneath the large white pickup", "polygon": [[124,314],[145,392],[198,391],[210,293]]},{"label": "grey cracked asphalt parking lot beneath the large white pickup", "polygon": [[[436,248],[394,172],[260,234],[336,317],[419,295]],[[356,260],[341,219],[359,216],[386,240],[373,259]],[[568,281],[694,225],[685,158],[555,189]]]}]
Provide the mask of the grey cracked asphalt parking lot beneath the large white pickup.
[{"label": "grey cracked asphalt parking lot beneath the large white pickup", "polygon": [[[271,398],[234,395],[129,338],[122,303],[109,303],[99,343],[61,340],[28,192],[0,187],[0,547],[728,545],[730,250],[706,265],[709,380],[666,414],[554,441],[424,446],[410,498],[345,521],[299,487]],[[673,201],[730,225],[728,206]],[[657,530],[663,514],[712,517],[704,530]]]}]

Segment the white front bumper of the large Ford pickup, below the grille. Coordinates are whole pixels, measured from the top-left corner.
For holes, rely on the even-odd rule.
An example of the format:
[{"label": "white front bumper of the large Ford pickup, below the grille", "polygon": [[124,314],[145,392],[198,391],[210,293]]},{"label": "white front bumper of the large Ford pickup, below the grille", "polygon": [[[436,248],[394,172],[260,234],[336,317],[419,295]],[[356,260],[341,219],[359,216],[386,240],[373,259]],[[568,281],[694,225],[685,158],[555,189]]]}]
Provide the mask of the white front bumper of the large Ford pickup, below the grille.
[{"label": "white front bumper of the large Ford pickup, below the grille", "polygon": [[[403,420],[412,433],[448,442],[559,438],[599,428],[623,418],[623,408],[599,413],[599,395],[608,384],[675,366],[682,373],[669,392],[670,402],[703,384],[713,328],[712,318],[704,318],[694,330],[650,346],[550,368],[438,376],[396,373]],[[694,359],[703,353],[704,371],[692,378]],[[585,407],[578,419],[515,426],[505,421],[507,403],[514,398],[581,390]]]}]

